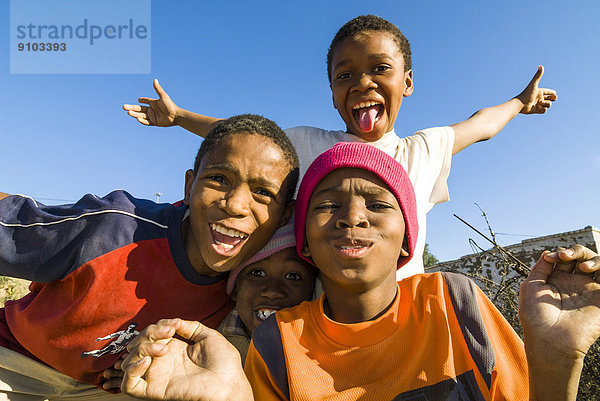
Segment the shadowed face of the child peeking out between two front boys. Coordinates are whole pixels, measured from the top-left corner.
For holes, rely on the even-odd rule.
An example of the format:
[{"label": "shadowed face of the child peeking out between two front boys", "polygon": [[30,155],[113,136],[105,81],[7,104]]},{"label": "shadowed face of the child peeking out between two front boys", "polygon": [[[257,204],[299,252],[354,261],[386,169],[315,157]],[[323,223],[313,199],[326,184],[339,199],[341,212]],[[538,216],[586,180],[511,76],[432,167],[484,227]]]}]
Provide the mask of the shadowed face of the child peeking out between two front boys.
[{"label": "shadowed face of the child peeking out between two front boys", "polygon": [[315,269],[286,248],[240,272],[232,297],[248,334],[272,313],[311,299]]}]

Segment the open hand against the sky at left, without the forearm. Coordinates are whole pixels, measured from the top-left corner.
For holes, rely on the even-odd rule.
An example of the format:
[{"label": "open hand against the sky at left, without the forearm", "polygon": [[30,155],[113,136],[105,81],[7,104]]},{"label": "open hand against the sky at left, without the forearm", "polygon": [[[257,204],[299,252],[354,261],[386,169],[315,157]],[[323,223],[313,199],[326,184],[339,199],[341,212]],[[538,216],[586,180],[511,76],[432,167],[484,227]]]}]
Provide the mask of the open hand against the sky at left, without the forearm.
[{"label": "open hand against the sky at left, without the forearm", "polygon": [[144,125],[156,125],[159,127],[171,127],[175,125],[175,119],[179,113],[179,107],[171,100],[167,92],[160,86],[158,79],[153,82],[154,90],[158,94],[158,99],[149,97],[140,97],[138,102],[147,104],[124,104],[123,110],[127,111],[131,117],[137,119]]}]

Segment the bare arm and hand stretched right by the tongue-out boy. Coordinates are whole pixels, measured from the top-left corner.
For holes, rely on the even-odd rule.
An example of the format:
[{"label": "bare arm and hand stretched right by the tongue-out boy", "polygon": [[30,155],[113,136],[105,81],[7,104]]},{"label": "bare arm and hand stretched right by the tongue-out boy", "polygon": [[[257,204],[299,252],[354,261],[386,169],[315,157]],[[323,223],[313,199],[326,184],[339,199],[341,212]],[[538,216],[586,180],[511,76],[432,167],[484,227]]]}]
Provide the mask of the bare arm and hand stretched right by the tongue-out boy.
[{"label": "bare arm and hand stretched right by the tongue-out boy", "polygon": [[539,66],[527,87],[508,102],[481,109],[469,119],[452,125],[454,128],[455,155],[475,142],[487,141],[496,135],[519,113],[544,114],[557,99],[556,91],[538,87],[544,75],[544,67]]}]

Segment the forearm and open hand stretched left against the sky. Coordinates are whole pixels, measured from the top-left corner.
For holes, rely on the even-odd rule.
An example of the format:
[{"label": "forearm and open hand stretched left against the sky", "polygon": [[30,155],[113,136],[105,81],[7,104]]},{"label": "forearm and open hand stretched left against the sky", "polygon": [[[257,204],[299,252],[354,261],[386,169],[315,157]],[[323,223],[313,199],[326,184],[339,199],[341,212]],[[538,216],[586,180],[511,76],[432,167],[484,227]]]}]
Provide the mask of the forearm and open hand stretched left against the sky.
[{"label": "forearm and open hand stretched left against the sky", "polygon": [[179,125],[204,138],[215,124],[221,121],[219,118],[203,116],[178,107],[160,86],[158,79],[154,80],[153,85],[158,99],[149,97],[138,98],[138,102],[147,104],[147,106],[140,104],[123,105],[123,110],[126,110],[127,114],[138,120],[141,124],[155,125],[157,127]]}]

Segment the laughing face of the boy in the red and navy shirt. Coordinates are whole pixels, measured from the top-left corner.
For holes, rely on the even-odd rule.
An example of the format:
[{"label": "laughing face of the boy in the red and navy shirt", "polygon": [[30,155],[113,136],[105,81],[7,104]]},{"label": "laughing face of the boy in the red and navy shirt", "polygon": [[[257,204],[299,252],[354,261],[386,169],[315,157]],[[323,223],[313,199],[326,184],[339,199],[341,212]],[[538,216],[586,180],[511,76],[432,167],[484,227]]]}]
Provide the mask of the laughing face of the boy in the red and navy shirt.
[{"label": "laughing face of the boy in the red and navy shirt", "polygon": [[264,246],[284,220],[291,167],[260,135],[235,134],[186,173],[186,253],[201,274],[232,270]]}]

